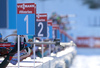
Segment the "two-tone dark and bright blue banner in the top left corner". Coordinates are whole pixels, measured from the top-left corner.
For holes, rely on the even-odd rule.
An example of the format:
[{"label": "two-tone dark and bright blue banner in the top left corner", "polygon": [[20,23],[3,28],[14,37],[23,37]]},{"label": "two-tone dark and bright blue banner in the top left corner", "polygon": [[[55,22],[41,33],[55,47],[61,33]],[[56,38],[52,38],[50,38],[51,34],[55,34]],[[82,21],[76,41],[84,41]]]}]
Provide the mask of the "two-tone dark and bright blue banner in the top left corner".
[{"label": "two-tone dark and bright blue banner in the top left corner", "polygon": [[16,0],[0,0],[0,28],[16,29]]}]

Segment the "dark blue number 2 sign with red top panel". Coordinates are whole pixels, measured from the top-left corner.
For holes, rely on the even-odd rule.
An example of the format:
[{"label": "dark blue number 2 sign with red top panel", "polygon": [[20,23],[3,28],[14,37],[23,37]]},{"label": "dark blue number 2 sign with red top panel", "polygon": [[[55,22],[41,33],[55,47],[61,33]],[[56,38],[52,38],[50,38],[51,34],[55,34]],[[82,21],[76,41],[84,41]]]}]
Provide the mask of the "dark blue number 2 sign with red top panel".
[{"label": "dark blue number 2 sign with red top panel", "polygon": [[35,37],[47,37],[47,14],[37,14],[35,23]]}]

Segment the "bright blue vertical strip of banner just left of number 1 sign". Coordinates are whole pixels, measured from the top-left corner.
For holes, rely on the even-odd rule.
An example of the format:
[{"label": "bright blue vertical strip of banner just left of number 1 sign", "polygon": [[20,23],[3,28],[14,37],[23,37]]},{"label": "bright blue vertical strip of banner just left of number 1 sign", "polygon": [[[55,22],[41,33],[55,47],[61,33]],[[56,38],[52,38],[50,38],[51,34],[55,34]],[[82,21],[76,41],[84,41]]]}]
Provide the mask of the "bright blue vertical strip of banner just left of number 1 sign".
[{"label": "bright blue vertical strip of banner just left of number 1 sign", "polygon": [[16,0],[8,0],[8,29],[16,29]]}]

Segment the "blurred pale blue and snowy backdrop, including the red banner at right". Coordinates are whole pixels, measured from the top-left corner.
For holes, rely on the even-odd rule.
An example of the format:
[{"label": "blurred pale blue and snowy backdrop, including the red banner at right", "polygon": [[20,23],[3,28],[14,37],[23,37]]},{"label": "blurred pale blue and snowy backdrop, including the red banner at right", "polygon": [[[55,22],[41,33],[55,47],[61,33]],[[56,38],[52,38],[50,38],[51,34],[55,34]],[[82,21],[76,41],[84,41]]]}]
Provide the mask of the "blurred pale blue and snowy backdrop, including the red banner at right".
[{"label": "blurred pale blue and snowy backdrop, including the red banner at right", "polygon": [[[27,0],[17,0],[24,2]],[[37,4],[37,13],[53,13],[63,18],[65,32],[77,44],[77,56],[70,68],[100,68],[100,0],[29,0]],[[14,30],[0,29],[3,37]],[[12,40],[12,39],[10,39]]]}]

